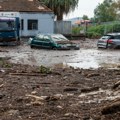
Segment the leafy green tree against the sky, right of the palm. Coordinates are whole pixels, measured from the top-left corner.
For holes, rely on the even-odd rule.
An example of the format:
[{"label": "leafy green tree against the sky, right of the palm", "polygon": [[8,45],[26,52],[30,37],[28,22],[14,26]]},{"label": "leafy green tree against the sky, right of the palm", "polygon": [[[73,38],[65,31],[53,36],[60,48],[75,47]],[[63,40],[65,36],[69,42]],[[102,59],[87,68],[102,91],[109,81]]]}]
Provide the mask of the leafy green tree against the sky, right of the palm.
[{"label": "leafy green tree against the sky, right of the palm", "polygon": [[114,7],[114,1],[104,0],[94,10],[95,20],[97,22],[108,22],[116,20],[116,10]]}]

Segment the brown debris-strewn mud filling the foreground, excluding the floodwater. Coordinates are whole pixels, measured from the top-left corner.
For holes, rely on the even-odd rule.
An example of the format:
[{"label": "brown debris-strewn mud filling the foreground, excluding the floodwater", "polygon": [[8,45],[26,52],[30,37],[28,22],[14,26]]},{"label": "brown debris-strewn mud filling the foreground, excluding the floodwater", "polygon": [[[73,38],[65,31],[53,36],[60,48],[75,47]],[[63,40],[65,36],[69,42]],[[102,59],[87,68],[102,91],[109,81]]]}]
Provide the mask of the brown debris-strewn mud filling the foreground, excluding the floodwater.
[{"label": "brown debris-strewn mud filling the foreground, excluding the floodwater", "polygon": [[[90,42],[81,45],[97,50]],[[0,120],[120,120],[119,66],[74,69],[15,64],[9,62],[8,49],[1,47]]]}]

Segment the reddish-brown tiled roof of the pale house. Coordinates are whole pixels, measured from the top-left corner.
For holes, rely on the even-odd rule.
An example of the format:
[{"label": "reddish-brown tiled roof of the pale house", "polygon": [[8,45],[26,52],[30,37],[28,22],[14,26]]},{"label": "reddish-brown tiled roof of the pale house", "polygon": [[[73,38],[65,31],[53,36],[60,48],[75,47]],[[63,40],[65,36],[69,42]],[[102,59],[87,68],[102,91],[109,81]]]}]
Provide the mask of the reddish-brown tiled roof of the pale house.
[{"label": "reddish-brown tiled roof of the pale house", "polygon": [[38,0],[0,0],[0,11],[52,12]]}]

